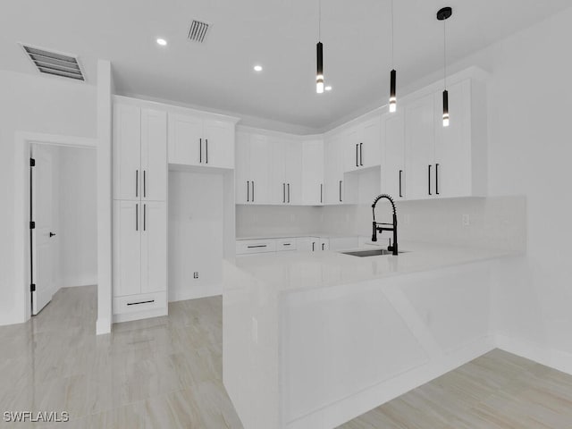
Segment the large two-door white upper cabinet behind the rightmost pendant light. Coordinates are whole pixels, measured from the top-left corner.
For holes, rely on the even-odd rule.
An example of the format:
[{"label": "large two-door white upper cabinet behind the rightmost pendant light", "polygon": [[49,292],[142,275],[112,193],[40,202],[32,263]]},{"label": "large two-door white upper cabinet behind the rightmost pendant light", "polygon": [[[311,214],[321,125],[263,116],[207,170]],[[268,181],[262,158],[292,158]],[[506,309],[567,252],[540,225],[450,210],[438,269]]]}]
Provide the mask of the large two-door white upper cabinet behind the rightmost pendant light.
[{"label": "large two-door white upper cabinet behind the rightmost pendant light", "polygon": [[[405,106],[408,199],[485,195],[486,123],[479,85],[468,79],[450,85],[449,127],[442,126],[441,91]],[[387,141],[385,145],[387,150]]]}]

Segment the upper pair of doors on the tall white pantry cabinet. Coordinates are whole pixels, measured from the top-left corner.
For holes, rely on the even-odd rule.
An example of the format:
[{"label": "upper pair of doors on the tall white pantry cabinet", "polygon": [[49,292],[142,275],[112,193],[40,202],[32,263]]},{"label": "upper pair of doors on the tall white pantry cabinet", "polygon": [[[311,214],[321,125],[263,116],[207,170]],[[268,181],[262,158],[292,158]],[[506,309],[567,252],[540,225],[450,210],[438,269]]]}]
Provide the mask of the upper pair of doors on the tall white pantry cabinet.
[{"label": "upper pair of doors on the tall white pantry cabinet", "polygon": [[114,104],[114,199],[165,201],[167,115]]}]

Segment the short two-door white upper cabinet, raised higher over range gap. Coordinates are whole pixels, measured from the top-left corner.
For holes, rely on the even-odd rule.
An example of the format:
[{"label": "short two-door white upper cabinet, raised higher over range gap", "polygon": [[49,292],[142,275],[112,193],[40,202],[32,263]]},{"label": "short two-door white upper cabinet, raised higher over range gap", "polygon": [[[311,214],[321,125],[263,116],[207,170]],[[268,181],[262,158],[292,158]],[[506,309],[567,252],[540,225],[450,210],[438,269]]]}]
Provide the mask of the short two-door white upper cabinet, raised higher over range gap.
[{"label": "short two-door white upper cabinet, raised higher over range gap", "polygon": [[381,164],[381,118],[358,123],[346,133],[345,171],[352,172]]}]

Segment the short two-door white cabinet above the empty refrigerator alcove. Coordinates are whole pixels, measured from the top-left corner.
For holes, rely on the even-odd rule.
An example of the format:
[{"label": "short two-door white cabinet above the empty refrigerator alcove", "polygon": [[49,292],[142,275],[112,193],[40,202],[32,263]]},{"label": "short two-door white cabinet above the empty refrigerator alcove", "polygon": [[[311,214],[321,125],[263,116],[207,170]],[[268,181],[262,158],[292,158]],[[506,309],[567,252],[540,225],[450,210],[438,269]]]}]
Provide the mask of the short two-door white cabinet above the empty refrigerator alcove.
[{"label": "short two-door white cabinet above the empty refrigerator alcove", "polygon": [[234,168],[234,122],[170,113],[169,164]]}]

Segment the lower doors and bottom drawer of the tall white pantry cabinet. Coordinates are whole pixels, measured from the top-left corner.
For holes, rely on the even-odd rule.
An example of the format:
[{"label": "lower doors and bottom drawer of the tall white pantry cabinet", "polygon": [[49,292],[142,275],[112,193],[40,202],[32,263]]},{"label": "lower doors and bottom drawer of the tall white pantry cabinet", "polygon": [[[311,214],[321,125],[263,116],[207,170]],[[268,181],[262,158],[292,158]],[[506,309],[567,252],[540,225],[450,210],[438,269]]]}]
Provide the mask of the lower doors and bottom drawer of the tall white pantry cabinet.
[{"label": "lower doors and bottom drawer of the tall white pantry cabinet", "polygon": [[164,202],[114,201],[115,322],[167,314],[166,214]]}]

